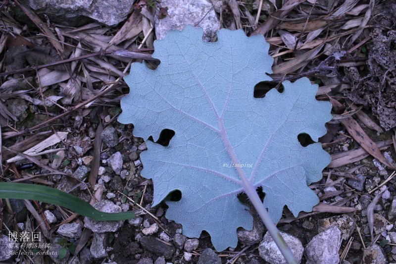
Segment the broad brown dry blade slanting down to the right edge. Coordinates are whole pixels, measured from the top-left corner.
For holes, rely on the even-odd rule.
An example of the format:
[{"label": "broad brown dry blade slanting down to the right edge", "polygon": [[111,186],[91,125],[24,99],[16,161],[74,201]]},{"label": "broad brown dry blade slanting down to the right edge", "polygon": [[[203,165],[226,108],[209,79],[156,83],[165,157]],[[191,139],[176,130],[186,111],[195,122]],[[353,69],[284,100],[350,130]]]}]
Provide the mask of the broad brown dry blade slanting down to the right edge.
[{"label": "broad brown dry blade slanting down to the right edge", "polygon": [[348,133],[374,158],[377,158],[383,164],[387,165],[389,168],[396,169],[395,166],[389,162],[388,159],[382,155],[380,149],[377,145],[367,136],[363,129],[359,126],[355,119],[348,117],[343,122],[343,125],[347,128]]}]

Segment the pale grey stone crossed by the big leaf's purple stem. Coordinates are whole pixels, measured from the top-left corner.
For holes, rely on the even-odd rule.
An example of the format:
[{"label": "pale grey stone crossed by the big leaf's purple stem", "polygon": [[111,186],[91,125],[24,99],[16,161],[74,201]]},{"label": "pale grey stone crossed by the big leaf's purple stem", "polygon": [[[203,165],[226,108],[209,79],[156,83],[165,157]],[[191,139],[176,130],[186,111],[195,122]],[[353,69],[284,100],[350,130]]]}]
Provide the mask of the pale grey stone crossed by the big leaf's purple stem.
[{"label": "pale grey stone crossed by the big leaf's purple stem", "polygon": [[[282,231],[279,232],[295,256],[297,263],[301,263],[302,254],[304,252],[304,247],[302,246],[301,241],[288,233]],[[270,264],[287,264],[269,232],[265,233],[263,240],[260,242],[258,252],[260,257]]]}]

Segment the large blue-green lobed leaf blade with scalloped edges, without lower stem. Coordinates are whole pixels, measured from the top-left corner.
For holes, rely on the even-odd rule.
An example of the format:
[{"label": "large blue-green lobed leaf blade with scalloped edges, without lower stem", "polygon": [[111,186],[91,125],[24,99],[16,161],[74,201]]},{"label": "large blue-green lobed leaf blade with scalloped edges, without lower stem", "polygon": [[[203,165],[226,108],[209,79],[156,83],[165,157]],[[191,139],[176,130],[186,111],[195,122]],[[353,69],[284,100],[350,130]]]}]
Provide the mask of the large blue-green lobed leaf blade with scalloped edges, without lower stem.
[{"label": "large blue-green lobed leaf blade with scalloped edges, without lower stem", "polygon": [[131,88],[121,100],[121,123],[154,141],[161,130],[175,136],[169,146],[147,141],[142,175],[152,178],[157,205],[174,190],[166,217],[183,224],[183,233],[206,230],[214,247],[235,247],[236,229],[252,228],[252,216],[237,195],[261,186],[264,205],[279,221],[286,205],[295,215],[311,211],[319,199],[307,184],[321,179],[330,162],[320,143],[302,147],[297,136],[314,141],[326,133],[331,104],[315,100],[317,85],[307,78],[284,82],[284,92],[253,97],[254,85],[271,80],[273,59],[263,36],[222,29],[215,43],[202,42],[192,26],[171,31],[154,43],[156,70],[133,63],[125,78]]}]

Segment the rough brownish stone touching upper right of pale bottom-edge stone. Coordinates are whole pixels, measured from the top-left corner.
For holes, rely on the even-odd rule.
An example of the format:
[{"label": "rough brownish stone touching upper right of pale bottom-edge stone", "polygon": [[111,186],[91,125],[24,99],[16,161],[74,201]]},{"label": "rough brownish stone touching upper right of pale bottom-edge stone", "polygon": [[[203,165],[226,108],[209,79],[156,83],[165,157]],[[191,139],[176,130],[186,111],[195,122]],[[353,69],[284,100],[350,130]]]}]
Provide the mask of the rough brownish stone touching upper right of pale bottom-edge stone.
[{"label": "rough brownish stone touching upper right of pale bottom-edge stone", "polygon": [[326,231],[333,226],[337,226],[342,233],[343,239],[347,240],[356,228],[356,221],[347,214],[318,220],[318,232]]}]

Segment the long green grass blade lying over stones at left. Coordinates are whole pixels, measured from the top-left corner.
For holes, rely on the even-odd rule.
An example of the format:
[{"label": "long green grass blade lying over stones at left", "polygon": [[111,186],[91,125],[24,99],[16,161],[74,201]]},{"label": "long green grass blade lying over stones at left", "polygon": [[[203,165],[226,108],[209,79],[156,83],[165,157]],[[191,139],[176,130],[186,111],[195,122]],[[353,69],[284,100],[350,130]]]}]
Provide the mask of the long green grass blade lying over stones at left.
[{"label": "long green grass blade lying over stones at left", "polygon": [[1,198],[37,200],[48,204],[54,204],[98,221],[135,218],[135,214],[131,211],[116,213],[98,211],[90,204],[74,195],[37,184],[0,182],[0,199]]}]

